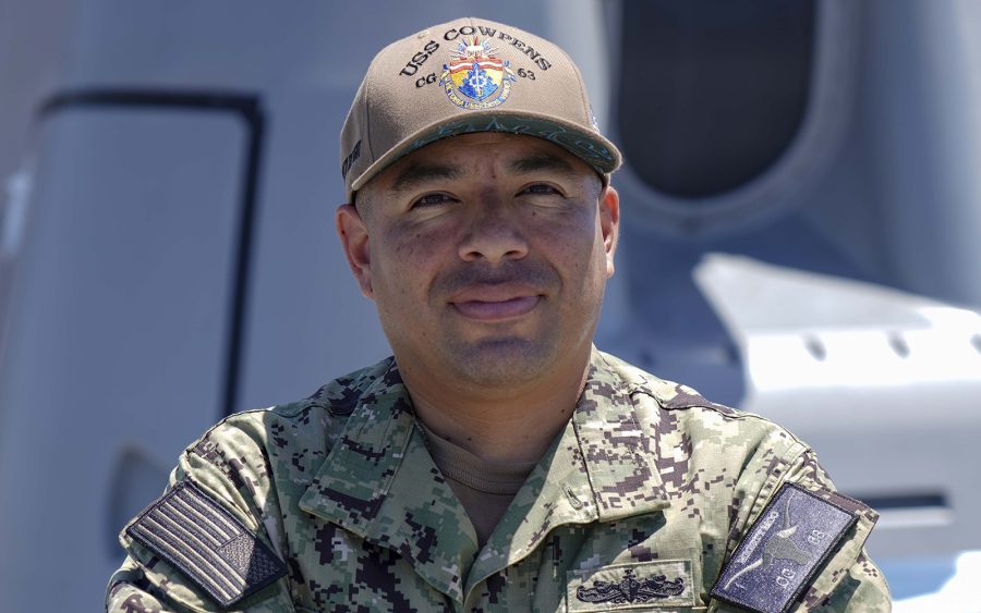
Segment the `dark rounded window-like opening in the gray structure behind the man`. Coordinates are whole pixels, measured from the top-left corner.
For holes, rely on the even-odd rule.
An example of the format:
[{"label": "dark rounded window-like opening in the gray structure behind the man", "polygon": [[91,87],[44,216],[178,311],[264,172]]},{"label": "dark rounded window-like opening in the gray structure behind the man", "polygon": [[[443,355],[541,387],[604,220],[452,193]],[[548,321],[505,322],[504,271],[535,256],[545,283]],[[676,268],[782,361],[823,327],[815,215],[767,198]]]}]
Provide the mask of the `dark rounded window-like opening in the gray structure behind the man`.
[{"label": "dark rounded window-like opening in the gray structure behind the man", "polygon": [[678,198],[735,189],[788,148],[807,110],[815,2],[621,3],[625,157]]}]

